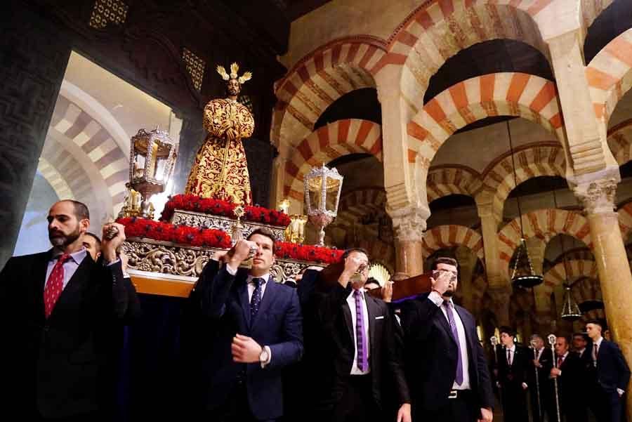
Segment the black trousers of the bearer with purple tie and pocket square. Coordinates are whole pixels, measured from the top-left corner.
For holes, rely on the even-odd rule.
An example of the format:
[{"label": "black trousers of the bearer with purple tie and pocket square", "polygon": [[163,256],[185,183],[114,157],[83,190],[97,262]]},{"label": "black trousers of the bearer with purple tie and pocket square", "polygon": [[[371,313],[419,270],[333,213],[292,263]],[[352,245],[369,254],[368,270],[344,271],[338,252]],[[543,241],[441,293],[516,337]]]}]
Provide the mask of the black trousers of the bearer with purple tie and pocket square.
[{"label": "black trousers of the bearer with purple tie and pocket square", "polygon": [[352,375],[336,407],[331,422],[383,422],[381,409],[373,397],[371,374]]}]

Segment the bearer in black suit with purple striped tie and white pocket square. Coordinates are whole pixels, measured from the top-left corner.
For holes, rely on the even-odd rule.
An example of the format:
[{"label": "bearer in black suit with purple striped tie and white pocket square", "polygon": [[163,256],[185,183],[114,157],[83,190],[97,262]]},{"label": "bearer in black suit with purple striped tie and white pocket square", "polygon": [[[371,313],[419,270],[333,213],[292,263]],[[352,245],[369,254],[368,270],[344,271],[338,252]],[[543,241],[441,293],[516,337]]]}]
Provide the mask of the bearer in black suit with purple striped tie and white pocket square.
[{"label": "bearer in black suit with purple striped tie and white pocket square", "polygon": [[385,404],[390,389],[397,397],[397,422],[410,422],[399,327],[386,303],[364,291],[367,251],[349,249],[343,258],[344,270],[333,287],[310,289],[306,344],[313,350],[305,369],[314,384],[308,397],[314,409],[305,416],[327,422],[389,421],[395,416]]}]

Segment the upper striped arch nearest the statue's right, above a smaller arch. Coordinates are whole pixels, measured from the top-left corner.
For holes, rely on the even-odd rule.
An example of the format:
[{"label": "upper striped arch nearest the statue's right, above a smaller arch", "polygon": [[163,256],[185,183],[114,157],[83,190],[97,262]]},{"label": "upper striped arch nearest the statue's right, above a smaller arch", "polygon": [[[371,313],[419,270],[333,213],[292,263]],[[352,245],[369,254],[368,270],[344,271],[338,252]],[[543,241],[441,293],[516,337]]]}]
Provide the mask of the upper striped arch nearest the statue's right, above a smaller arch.
[{"label": "upper striped arch nearest the statue's right, above a smaller arch", "polygon": [[277,82],[272,142],[296,145],[335,100],[355,89],[375,87],[370,70],[384,54],[383,40],[357,36],[331,41],[296,63]]}]

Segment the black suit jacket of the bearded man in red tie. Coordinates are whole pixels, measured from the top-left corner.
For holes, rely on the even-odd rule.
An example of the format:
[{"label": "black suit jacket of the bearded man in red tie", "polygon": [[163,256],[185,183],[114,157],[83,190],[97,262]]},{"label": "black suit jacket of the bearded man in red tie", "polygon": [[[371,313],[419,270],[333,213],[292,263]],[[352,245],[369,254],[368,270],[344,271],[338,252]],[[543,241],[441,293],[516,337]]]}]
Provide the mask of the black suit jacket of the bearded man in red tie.
[{"label": "black suit jacket of the bearded man in red tie", "polygon": [[[112,397],[112,325],[129,300],[121,263],[105,266],[88,254],[44,317],[44,284],[52,250],[11,258],[0,273],[0,351],[9,407],[62,418],[103,411]],[[24,411],[25,409],[22,409]]]}]

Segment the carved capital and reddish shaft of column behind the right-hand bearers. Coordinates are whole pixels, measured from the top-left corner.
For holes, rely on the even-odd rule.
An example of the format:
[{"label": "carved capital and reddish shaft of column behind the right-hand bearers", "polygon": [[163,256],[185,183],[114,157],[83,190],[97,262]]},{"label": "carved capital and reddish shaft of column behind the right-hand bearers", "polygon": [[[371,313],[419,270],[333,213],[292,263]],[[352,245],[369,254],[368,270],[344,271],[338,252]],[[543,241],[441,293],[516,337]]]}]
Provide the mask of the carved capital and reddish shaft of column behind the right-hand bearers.
[{"label": "carved capital and reddish shaft of column behind the right-hand bearers", "polygon": [[422,239],[426,230],[427,209],[407,207],[389,211],[395,230],[395,279],[423,273]]}]

